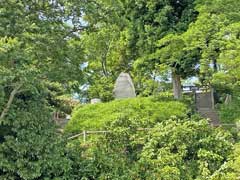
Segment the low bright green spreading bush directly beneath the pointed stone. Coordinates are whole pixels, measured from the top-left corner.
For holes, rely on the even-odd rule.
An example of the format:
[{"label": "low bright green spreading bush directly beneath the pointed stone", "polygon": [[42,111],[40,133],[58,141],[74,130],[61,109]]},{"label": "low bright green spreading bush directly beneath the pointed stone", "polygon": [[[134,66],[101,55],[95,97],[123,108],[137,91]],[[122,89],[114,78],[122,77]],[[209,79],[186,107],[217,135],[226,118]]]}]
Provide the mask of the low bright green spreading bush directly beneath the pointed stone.
[{"label": "low bright green spreading bush directly beneath the pointed stone", "polygon": [[65,130],[100,130],[105,128],[106,123],[122,116],[139,121],[140,126],[149,127],[172,116],[185,117],[187,111],[185,104],[173,100],[156,101],[153,97],[115,100],[75,109]]}]

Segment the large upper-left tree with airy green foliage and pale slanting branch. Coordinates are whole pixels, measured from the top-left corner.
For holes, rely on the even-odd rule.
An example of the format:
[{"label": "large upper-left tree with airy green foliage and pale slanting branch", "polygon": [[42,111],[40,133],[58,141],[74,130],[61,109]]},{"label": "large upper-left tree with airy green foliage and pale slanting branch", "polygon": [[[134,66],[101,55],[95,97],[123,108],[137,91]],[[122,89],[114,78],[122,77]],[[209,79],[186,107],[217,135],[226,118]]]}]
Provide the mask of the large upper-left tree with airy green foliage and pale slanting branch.
[{"label": "large upper-left tree with airy green foliage and pale slanting branch", "polygon": [[[1,11],[1,27],[7,28],[0,30],[0,73],[8,99],[0,108],[3,120],[15,95],[34,87],[37,79],[66,87],[80,80],[81,59],[73,55],[78,52],[72,52],[73,43],[67,38],[71,27],[64,22],[60,4],[2,1]],[[9,20],[8,14],[16,19]]]}]

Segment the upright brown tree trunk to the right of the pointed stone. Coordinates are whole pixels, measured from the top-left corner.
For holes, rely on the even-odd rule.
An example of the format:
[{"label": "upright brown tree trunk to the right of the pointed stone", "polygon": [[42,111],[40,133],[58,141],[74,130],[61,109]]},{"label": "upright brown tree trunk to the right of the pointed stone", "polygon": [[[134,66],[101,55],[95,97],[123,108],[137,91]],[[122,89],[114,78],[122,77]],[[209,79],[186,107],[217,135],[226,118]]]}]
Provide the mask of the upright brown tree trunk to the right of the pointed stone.
[{"label": "upright brown tree trunk to the right of the pointed stone", "polygon": [[173,83],[173,95],[175,99],[180,99],[182,97],[182,84],[181,76],[172,72],[172,83]]}]

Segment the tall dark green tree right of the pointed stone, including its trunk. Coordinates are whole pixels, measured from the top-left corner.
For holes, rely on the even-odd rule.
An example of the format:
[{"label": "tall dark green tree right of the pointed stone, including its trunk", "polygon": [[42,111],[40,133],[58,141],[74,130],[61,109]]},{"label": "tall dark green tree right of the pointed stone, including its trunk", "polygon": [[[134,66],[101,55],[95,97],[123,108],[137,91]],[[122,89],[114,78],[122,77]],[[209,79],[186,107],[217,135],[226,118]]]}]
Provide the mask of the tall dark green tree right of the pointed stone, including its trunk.
[{"label": "tall dark green tree right of the pointed stone, including its trunk", "polygon": [[[181,59],[184,57],[177,57],[180,59],[174,59],[175,62],[172,62],[173,58],[170,62],[166,62],[166,59],[161,60],[160,57],[152,54],[157,53],[157,51],[159,51],[158,49],[161,48],[157,43],[159,40],[161,41],[164,37],[167,39],[168,34],[176,34],[176,36],[181,34],[186,31],[189,23],[194,21],[197,14],[194,10],[194,1],[157,2],[153,0],[138,2],[134,11],[135,16],[132,17],[132,21],[134,23],[133,27],[137,27],[135,30],[135,33],[137,33],[135,35],[135,41],[138,48],[138,56],[135,62],[135,64],[137,64],[137,66],[135,66],[136,74],[139,75],[138,71],[140,71],[142,72],[142,75],[140,75],[142,78],[143,76],[147,76],[148,79],[156,81],[156,79],[159,79],[159,77],[163,75],[161,67],[164,66],[162,64],[165,61],[165,65],[167,65],[164,66],[165,69],[169,67],[168,69],[172,69],[173,71],[172,80],[175,89],[174,94],[176,98],[179,98],[181,96],[180,76],[179,70],[174,69],[174,67],[180,66],[181,64],[178,63],[178,61],[182,62]],[[141,16],[139,16],[140,14]],[[166,41],[166,39],[163,41]],[[172,52],[173,51],[170,51],[169,55]],[[187,62],[191,63],[189,61]],[[161,67],[159,68],[159,66]],[[139,68],[143,68],[143,70]]]}]

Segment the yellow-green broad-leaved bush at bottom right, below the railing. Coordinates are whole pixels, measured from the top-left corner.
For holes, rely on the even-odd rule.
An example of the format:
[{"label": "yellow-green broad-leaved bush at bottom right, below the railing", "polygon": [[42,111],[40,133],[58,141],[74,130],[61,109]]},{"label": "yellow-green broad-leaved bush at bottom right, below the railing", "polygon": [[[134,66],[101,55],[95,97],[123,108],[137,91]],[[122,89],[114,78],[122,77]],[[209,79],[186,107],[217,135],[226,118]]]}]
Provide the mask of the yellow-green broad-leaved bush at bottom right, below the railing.
[{"label": "yellow-green broad-leaved bush at bottom right, below the railing", "polygon": [[169,120],[150,132],[140,162],[146,179],[207,179],[231,148],[230,134],[206,121]]}]

